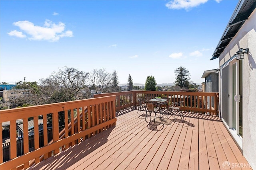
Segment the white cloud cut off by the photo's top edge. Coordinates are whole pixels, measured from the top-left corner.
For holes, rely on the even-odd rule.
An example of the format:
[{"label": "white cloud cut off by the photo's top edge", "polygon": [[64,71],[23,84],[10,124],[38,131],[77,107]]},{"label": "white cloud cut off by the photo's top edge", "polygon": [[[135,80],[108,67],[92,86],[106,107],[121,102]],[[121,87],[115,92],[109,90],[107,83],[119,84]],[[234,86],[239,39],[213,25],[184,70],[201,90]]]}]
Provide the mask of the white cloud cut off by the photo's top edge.
[{"label": "white cloud cut off by the photo's top edge", "polygon": [[173,0],[165,4],[165,6],[169,9],[180,10],[185,9],[188,10],[190,8],[194,8],[200,6],[201,4],[206,3],[208,0]]}]

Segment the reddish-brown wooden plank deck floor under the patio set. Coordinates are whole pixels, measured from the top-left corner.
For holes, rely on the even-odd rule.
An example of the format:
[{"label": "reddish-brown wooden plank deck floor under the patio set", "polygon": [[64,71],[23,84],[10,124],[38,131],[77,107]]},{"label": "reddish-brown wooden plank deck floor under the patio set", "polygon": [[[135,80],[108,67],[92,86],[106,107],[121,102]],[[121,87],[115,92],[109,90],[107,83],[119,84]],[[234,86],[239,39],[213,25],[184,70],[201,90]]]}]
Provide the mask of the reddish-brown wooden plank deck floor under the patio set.
[{"label": "reddish-brown wooden plank deck floor under the patio set", "polygon": [[29,169],[215,170],[248,164],[216,116],[185,112],[184,123],[176,114],[154,123],[137,110],[124,112],[117,115],[115,127]]}]

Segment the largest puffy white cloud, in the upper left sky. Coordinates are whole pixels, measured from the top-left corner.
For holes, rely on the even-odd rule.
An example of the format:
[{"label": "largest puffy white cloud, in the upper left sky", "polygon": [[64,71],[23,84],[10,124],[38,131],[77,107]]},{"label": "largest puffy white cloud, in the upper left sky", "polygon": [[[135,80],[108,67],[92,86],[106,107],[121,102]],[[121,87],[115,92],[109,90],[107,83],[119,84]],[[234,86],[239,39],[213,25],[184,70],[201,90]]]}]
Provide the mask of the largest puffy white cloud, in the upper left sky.
[{"label": "largest puffy white cloud, in the upper left sky", "polygon": [[[46,40],[46,41],[58,41],[62,37],[73,37],[73,32],[68,30],[64,31],[65,24],[62,22],[59,22],[58,24],[53,23],[50,20],[46,20],[44,22],[44,26],[38,26],[34,25],[34,23],[30,21],[18,21],[14,22],[13,25],[19,27],[23,32],[18,32],[18,35],[24,35],[23,33],[26,33],[24,35],[25,37],[28,37],[30,40]],[[11,35],[13,31],[9,32],[8,34]],[[16,35],[14,35],[16,37]]]}]

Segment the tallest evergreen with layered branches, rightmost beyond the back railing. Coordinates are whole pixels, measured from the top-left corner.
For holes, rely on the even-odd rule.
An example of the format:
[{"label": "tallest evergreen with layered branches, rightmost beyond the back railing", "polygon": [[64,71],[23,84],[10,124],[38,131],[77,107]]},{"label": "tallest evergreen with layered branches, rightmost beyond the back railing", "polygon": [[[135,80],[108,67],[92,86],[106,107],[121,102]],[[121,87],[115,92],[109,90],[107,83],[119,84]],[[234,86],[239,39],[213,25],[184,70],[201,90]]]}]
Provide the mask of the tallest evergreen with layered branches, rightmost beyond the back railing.
[{"label": "tallest evergreen with layered branches, rightmost beyond the back railing", "polygon": [[180,86],[181,88],[188,88],[188,80],[190,80],[189,71],[185,67],[180,66],[174,70],[174,73],[176,75],[176,80],[174,82],[175,86]]}]

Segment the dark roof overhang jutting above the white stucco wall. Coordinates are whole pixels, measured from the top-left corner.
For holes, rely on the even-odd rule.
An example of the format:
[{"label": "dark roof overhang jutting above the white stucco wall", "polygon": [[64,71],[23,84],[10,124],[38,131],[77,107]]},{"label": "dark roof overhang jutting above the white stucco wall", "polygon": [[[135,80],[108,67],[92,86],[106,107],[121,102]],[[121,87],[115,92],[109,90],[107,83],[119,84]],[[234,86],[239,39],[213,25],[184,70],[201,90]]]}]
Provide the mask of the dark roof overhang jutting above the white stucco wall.
[{"label": "dark roof overhang jutting above the white stucco wall", "polygon": [[230,43],[231,39],[236,35],[238,30],[242,27],[244,22],[252,14],[256,7],[256,0],[239,0],[228,25],[222,34],[222,37],[214,50],[212,59],[216,59],[224,51],[226,46]]}]

